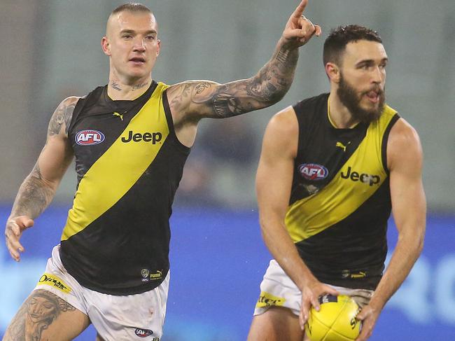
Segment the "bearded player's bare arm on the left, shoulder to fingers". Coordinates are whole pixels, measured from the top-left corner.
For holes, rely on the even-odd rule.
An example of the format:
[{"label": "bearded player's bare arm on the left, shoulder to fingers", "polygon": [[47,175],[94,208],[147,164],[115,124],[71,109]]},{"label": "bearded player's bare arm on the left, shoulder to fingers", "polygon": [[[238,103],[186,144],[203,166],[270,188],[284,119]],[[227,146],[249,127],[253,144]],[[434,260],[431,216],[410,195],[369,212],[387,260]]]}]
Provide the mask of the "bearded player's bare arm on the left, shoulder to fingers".
[{"label": "bearded player's bare arm on the left, shoulder to fingers", "polygon": [[304,264],[290,238],[284,218],[288,210],[297,154],[298,125],[292,107],[278,113],[265,131],[260,155],[256,190],[262,237],[272,256],[302,291],[300,325],[308,319],[311,305],[318,309],[318,296],[337,295],[337,291],[321,284]]}]

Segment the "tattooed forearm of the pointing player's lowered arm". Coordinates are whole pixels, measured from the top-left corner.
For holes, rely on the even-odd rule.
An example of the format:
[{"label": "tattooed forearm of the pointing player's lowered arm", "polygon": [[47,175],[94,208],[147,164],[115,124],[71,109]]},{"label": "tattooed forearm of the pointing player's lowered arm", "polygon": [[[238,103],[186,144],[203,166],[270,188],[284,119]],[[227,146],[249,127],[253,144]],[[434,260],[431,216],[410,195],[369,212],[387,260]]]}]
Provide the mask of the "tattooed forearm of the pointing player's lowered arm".
[{"label": "tattooed forearm of the pointing player's lowered arm", "polygon": [[54,197],[55,190],[48,186],[38,166],[38,162],[19,188],[13,204],[12,216],[39,216]]}]

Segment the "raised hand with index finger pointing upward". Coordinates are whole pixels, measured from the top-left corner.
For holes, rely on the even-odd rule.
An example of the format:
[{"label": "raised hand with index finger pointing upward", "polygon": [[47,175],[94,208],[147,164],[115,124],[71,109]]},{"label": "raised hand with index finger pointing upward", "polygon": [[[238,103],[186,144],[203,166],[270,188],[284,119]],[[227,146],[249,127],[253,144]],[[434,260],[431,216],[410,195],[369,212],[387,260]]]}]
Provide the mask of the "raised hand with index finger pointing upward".
[{"label": "raised hand with index finger pointing upward", "polygon": [[307,3],[308,0],[300,2],[294,13],[290,15],[283,31],[283,38],[297,47],[304,46],[312,36],[319,36],[322,32],[321,26],[313,25],[311,20],[303,15]]}]

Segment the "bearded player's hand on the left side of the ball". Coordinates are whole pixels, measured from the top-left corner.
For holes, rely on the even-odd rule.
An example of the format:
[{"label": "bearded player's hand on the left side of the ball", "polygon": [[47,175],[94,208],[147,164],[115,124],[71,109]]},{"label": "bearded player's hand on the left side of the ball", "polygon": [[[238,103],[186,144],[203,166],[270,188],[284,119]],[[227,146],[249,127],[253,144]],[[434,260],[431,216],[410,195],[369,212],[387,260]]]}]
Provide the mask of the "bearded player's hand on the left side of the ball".
[{"label": "bearded player's hand on the left side of the ball", "polygon": [[319,296],[328,293],[335,296],[339,295],[338,291],[334,288],[326,284],[322,284],[317,279],[314,279],[309,285],[302,289],[302,305],[300,306],[299,316],[300,328],[302,328],[302,330],[304,330],[305,323],[308,321],[311,306],[319,311],[319,309],[321,309],[319,305]]}]

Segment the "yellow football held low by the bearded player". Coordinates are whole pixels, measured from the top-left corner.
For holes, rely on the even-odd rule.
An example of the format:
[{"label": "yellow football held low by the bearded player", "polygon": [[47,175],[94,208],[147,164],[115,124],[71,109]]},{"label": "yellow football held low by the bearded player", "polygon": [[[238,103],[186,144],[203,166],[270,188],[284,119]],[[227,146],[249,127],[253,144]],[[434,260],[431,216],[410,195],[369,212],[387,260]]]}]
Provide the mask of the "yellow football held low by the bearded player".
[{"label": "yellow football held low by the bearded player", "polygon": [[311,341],[352,341],[360,333],[356,319],[360,308],[346,295],[323,295],[319,298],[321,309],[311,307],[305,333]]}]

